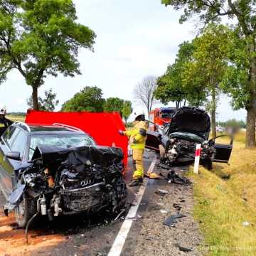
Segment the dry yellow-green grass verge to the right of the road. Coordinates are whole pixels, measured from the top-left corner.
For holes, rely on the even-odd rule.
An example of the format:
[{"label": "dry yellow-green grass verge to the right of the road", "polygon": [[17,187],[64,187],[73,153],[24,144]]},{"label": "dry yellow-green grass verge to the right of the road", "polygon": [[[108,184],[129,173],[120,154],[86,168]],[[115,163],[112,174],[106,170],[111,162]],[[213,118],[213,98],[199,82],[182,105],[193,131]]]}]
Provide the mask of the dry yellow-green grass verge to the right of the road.
[{"label": "dry yellow-green grass verge to the right of the road", "polygon": [[[220,139],[226,143],[228,139]],[[256,255],[256,149],[245,149],[245,133],[235,137],[230,165],[201,167],[193,176],[194,216],[207,255]]]}]

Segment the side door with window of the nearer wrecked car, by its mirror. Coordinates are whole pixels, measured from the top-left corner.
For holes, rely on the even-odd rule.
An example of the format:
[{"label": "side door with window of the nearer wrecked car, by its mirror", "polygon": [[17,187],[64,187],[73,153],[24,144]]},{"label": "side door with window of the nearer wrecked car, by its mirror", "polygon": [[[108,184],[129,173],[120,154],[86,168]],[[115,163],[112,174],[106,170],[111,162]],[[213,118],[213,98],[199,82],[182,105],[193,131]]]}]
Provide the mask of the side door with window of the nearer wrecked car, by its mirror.
[{"label": "side door with window of the nearer wrecked car, by its mirror", "polygon": [[21,161],[8,159],[10,151],[19,151],[23,157],[26,148],[26,133],[18,127],[9,127],[1,137],[0,146],[0,189],[5,197],[12,192],[11,177]]}]

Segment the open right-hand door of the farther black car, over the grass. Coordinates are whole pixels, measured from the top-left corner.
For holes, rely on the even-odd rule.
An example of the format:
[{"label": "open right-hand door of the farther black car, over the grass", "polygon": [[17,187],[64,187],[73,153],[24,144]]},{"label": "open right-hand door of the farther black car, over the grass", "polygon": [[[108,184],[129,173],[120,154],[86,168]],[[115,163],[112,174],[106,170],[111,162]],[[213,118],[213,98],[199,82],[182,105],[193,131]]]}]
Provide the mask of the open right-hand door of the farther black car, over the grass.
[{"label": "open right-hand door of the farther black car, over the grass", "polygon": [[[215,139],[218,139],[220,137],[230,137],[230,143],[229,144],[216,143]],[[220,135],[218,137],[215,137],[215,139],[213,139],[213,142],[214,142],[213,146],[216,149],[216,154],[213,161],[220,162],[220,163],[228,163],[228,160],[230,159],[231,151],[233,149],[234,138],[230,135]]]}]

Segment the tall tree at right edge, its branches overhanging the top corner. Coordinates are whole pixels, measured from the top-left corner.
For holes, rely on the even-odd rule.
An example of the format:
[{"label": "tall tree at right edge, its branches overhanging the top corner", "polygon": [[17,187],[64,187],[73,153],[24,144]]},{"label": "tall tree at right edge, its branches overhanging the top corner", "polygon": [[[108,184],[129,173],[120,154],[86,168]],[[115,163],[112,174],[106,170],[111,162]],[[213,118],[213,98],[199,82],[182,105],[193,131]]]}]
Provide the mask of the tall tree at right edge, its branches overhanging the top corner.
[{"label": "tall tree at right edge, its branches overhanging the top corner", "polygon": [[200,14],[201,21],[209,23],[220,21],[227,16],[238,22],[242,37],[247,42],[246,52],[249,69],[247,70],[248,98],[245,109],[247,110],[246,147],[255,147],[255,120],[256,120],[256,23],[255,23],[255,1],[254,0],[161,0],[162,4],[174,6],[174,9],[183,9],[180,22],[186,21],[193,14]]}]

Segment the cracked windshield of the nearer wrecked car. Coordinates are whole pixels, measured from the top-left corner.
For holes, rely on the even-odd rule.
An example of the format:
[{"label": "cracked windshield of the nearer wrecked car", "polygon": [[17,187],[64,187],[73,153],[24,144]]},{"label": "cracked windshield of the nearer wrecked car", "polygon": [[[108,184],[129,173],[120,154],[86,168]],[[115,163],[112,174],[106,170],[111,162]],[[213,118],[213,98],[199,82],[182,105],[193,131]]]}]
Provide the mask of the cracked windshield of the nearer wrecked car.
[{"label": "cracked windshield of the nearer wrecked car", "polygon": [[32,134],[29,159],[32,158],[36,146],[40,145],[69,148],[73,146],[94,146],[95,141],[87,134]]}]

